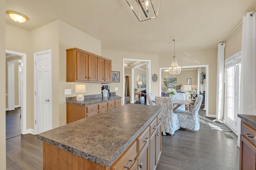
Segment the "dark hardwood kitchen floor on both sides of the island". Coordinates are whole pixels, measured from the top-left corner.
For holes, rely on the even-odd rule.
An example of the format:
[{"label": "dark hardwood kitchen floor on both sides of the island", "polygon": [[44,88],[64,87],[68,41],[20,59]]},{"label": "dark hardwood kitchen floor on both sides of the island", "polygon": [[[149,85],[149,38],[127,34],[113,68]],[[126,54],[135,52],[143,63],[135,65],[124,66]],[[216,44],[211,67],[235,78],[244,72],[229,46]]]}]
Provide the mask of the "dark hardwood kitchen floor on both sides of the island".
[{"label": "dark hardwood kitchen floor on both sides of the island", "polygon": [[[8,117],[6,117],[8,119]],[[239,148],[232,132],[210,129],[200,109],[200,130],[178,130],[162,136],[162,155],[156,170],[238,170]],[[227,139],[224,133],[234,139]],[[26,134],[6,139],[7,170],[42,170],[42,141]]]}]

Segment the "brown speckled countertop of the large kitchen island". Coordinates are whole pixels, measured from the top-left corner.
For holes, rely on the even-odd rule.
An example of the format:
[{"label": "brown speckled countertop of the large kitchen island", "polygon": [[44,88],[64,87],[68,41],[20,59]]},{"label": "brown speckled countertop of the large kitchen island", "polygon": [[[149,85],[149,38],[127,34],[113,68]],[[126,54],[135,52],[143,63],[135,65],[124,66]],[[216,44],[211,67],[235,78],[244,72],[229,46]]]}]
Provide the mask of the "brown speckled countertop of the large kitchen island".
[{"label": "brown speckled countertop of the large kitchen island", "polygon": [[37,138],[109,167],[160,110],[161,106],[127,104],[40,133]]}]

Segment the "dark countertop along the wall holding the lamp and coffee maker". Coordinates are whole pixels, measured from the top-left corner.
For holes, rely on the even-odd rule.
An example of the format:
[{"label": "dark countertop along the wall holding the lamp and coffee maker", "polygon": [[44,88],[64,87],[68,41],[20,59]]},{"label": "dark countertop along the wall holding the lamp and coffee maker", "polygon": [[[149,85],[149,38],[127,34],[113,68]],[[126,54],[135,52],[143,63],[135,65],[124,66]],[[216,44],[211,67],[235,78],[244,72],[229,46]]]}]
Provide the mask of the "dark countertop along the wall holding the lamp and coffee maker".
[{"label": "dark countertop along the wall holding the lamp and coffee maker", "polygon": [[66,99],[67,104],[76,104],[76,105],[91,105],[91,104],[97,104],[97,103],[102,103],[102,102],[109,102],[111,100],[116,100],[116,99],[121,99],[122,97],[117,96],[117,95],[111,95],[109,97],[100,97],[93,96],[96,98],[85,98],[83,102],[77,102],[76,97],[70,97]]}]

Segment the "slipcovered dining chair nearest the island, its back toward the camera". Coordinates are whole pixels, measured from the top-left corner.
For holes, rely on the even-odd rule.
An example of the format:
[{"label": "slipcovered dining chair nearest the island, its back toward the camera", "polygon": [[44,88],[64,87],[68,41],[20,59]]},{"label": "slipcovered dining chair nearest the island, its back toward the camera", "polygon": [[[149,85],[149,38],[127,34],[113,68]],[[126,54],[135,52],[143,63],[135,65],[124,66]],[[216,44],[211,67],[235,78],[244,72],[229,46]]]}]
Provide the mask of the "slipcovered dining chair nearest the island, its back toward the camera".
[{"label": "slipcovered dining chair nearest the island, its back toward the camera", "polygon": [[170,97],[155,97],[156,105],[162,106],[162,132],[163,135],[172,136],[174,132],[180,129],[178,115],[173,113],[173,103]]}]

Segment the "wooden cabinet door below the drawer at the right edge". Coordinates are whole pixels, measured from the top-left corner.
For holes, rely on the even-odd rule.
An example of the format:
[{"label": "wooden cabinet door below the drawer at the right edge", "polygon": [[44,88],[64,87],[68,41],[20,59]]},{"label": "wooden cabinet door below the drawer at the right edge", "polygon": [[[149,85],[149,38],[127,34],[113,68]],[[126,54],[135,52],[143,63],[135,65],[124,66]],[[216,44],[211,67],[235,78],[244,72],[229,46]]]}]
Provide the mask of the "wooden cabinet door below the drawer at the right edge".
[{"label": "wooden cabinet door below the drawer at the right edge", "polygon": [[240,135],[240,170],[255,170],[256,147]]}]

